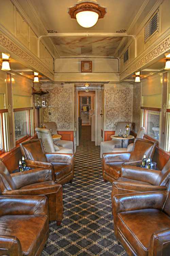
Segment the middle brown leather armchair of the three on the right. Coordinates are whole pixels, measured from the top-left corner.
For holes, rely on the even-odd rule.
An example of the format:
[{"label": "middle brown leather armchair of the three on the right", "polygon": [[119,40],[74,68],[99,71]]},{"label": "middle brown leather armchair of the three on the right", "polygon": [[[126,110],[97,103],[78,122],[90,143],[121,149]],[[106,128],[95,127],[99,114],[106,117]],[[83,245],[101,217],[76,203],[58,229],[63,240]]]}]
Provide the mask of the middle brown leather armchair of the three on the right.
[{"label": "middle brown leather armchair of the three on the right", "polygon": [[120,176],[113,182],[112,197],[133,192],[166,190],[170,181],[170,160],[162,171],[123,164]]}]

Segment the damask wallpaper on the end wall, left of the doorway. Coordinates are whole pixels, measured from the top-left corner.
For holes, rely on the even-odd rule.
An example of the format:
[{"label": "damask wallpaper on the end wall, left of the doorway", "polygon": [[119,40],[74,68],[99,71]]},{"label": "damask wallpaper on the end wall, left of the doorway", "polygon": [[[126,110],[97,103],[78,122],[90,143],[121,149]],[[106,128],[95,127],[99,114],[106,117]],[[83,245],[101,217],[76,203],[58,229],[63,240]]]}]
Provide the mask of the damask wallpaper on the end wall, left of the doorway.
[{"label": "damask wallpaper on the end wall, left of the doorway", "polygon": [[43,122],[55,122],[57,130],[74,130],[74,85],[49,89],[47,102]]}]

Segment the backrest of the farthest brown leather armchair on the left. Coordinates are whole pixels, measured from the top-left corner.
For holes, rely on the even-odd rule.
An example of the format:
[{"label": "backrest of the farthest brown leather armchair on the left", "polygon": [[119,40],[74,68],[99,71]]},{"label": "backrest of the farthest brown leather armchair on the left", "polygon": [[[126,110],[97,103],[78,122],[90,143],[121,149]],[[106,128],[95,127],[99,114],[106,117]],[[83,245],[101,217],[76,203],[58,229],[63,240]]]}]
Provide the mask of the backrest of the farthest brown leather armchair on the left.
[{"label": "backrest of the farthest brown leather armchair on the left", "polygon": [[20,144],[22,155],[28,160],[47,162],[41,139],[30,140]]}]

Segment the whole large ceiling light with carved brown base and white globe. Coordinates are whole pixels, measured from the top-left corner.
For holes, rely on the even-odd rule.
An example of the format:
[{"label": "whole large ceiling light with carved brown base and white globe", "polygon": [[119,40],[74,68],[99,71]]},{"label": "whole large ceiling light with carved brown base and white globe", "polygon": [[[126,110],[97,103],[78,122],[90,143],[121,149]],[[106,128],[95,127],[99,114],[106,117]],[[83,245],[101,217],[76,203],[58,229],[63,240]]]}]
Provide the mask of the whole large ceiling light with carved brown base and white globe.
[{"label": "whole large ceiling light with carved brown base and white globe", "polygon": [[97,23],[98,19],[104,18],[106,9],[97,3],[82,2],[69,8],[68,13],[72,19],[77,19],[80,26],[91,28]]}]

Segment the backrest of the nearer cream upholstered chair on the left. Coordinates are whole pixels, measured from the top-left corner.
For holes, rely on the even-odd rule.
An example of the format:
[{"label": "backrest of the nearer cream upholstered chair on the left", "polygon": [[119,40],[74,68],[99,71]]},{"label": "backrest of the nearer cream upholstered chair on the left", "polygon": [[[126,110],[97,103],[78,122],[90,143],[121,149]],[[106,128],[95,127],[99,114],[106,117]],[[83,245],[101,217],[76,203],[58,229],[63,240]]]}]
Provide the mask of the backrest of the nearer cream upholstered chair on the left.
[{"label": "backrest of the nearer cream upholstered chair on the left", "polygon": [[46,152],[55,153],[54,142],[50,130],[44,128],[35,128],[38,139],[41,139]]}]

